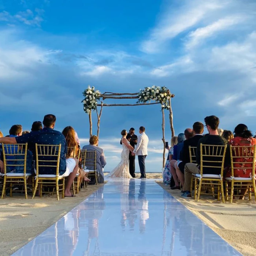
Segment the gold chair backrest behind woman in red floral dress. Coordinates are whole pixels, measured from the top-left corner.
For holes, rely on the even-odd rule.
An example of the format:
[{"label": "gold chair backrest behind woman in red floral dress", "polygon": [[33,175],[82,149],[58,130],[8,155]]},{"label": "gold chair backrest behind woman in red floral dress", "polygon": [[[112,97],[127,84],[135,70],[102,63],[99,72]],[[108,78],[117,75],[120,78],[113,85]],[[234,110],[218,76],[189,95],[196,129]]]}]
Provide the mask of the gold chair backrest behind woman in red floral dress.
[{"label": "gold chair backrest behind woman in red floral dress", "polygon": [[[234,177],[235,169],[251,172],[252,177],[255,175],[255,157],[256,145],[253,146],[231,146],[231,176]],[[251,178],[251,177],[248,177]]]}]

